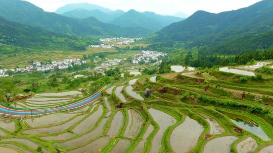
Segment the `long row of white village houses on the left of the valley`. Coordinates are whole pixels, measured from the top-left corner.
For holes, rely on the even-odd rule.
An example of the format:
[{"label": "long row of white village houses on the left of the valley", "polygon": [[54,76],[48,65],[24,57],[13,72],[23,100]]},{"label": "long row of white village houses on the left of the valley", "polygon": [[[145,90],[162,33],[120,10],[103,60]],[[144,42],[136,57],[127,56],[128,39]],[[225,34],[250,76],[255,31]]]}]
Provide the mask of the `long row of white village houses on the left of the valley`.
[{"label": "long row of white village houses on the left of the valley", "polygon": [[[52,61],[49,64],[43,64],[39,61],[33,62],[31,66],[24,68],[12,68],[10,69],[14,73],[19,72],[33,72],[33,71],[47,71],[55,69],[66,69],[68,67],[73,67],[73,65],[81,65],[87,63],[86,60],[80,60],[79,58],[65,59],[60,61]],[[8,77],[8,69],[0,69],[0,77]]]}]

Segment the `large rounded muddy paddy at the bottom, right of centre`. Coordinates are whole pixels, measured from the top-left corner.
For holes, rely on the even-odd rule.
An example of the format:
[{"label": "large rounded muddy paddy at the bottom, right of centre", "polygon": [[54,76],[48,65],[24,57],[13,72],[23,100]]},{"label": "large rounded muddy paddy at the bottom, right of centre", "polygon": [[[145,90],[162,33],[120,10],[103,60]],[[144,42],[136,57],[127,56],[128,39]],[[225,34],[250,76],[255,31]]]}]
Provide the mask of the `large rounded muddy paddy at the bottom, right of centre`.
[{"label": "large rounded muddy paddy at the bottom, right of centre", "polygon": [[178,125],[171,133],[170,144],[175,152],[188,152],[198,142],[204,127],[196,120],[186,116],[185,121]]}]

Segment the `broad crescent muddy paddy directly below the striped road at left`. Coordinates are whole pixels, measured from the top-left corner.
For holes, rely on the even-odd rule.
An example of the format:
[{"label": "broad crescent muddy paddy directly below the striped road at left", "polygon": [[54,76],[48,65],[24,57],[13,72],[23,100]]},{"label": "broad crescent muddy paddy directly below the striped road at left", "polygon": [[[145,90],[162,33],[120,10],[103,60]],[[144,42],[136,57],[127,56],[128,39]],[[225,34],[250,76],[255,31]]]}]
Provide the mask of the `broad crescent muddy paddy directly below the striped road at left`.
[{"label": "broad crescent muddy paddy directly below the striped road at left", "polygon": [[54,124],[60,124],[74,117],[75,114],[54,113],[37,118],[29,118],[24,120],[31,127],[49,126]]}]

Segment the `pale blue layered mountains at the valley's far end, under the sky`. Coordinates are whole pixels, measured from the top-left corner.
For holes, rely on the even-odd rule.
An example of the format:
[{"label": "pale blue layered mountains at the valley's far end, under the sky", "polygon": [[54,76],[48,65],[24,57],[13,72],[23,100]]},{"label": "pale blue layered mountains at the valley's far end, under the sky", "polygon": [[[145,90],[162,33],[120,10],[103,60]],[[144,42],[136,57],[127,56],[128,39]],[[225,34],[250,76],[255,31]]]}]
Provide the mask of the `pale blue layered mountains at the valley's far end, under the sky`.
[{"label": "pale blue layered mountains at the valley's far end, under the sky", "polygon": [[[73,6],[73,7],[72,7]],[[56,11],[60,13],[60,10],[70,10],[63,13],[63,16],[85,19],[88,17],[95,17],[96,19],[121,26],[121,27],[143,27],[154,32],[161,30],[163,27],[168,26],[172,23],[185,20],[185,18],[173,17],[173,16],[162,16],[155,14],[153,12],[137,12],[135,10],[129,10],[128,12],[123,12],[121,10],[117,11],[107,11],[103,9],[83,9],[80,4],[71,4],[64,6]],[[88,6],[88,5],[86,5]],[[71,8],[76,8],[71,10]],[[91,8],[91,7],[90,7]],[[94,8],[94,7],[93,7]]]}]

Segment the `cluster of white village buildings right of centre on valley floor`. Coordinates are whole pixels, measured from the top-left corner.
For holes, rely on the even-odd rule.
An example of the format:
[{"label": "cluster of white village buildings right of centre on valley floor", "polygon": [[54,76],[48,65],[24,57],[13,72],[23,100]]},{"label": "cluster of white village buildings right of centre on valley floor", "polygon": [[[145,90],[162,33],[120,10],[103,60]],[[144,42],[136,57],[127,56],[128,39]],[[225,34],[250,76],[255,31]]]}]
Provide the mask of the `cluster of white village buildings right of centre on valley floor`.
[{"label": "cluster of white village buildings right of centre on valley floor", "polygon": [[152,60],[158,61],[160,57],[166,56],[167,53],[157,52],[157,51],[151,51],[151,50],[143,50],[141,54],[136,55],[132,59],[133,64],[148,64],[151,63]]}]

